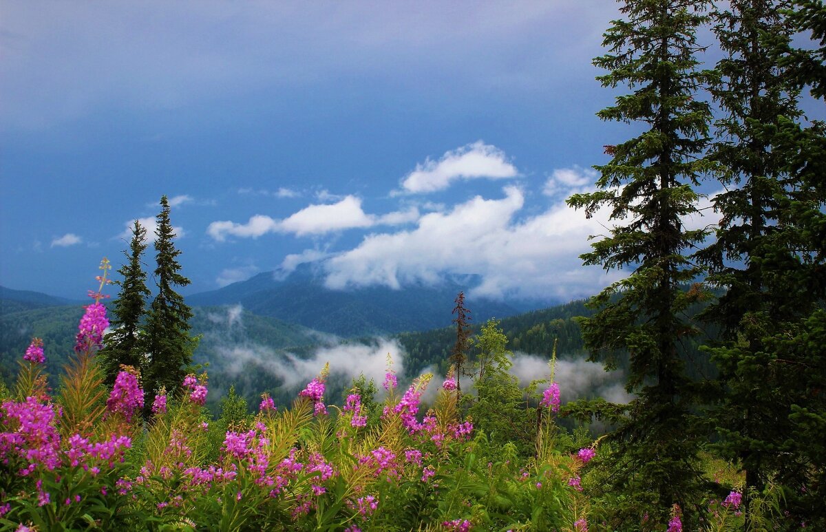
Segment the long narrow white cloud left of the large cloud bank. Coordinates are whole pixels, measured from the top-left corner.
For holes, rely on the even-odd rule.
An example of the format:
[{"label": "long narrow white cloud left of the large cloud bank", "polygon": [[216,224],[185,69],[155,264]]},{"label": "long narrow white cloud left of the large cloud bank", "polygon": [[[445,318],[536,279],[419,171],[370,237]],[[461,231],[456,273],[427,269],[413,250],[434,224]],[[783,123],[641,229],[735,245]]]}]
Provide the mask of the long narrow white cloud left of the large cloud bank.
[{"label": "long narrow white cloud left of the large cloud bank", "polygon": [[415,221],[419,211],[411,207],[406,211],[390,212],[376,216],[362,209],[360,198],[349,195],[335,203],[311,205],[283,220],[266,215],[255,215],[245,224],[233,221],[213,221],[207,234],[218,241],[228,235],[240,238],[259,238],[268,233],[292,233],[297,236],[324,235],[325,233],[364,229],[373,226],[397,226]]}]

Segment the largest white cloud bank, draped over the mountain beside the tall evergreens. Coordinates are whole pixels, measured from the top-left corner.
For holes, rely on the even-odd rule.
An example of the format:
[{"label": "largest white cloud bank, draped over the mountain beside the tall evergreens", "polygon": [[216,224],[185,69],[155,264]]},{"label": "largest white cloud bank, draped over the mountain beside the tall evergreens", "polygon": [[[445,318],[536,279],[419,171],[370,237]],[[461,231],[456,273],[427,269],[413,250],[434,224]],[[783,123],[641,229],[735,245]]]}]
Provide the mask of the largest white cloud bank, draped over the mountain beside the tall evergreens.
[{"label": "largest white cloud bank, draped over the mountain beside the tall evergreens", "polygon": [[586,220],[563,202],[518,221],[519,188],[505,197],[473,197],[446,212],[421,216],[414,230],[368,235],[356,248],[325,263],[328,287],[430,283],[444,273],[482,276],[475,296],[570,298],[605,286],[599,268],[582,268],[588,235],[602,230],[600,215]]}]

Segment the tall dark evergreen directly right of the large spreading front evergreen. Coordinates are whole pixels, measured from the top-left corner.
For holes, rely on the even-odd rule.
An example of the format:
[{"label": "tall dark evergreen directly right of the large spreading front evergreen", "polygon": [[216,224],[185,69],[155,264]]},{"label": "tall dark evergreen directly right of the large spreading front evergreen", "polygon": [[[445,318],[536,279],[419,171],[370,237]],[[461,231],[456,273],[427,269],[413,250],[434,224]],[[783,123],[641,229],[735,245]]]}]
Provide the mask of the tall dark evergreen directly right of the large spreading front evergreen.
[{"label": "tall dark evergreen directly right of the large spreading front evergreen", "polygon": [[786,368],[777,367],[763,338],[812,304],[808,288],[795,280],[803,264],[789,245],[793,226],[779,223],[784,198],[798,188],[788,172],[788,150],[779,145],[781,124],[800,115],[798,91],[770,60],[794,33],[789,8],[790,2],[776,0],[731,0],[714,12],[725,55],[710,85],[722,117],[708,158],[725,192],[713,200],[721,215],[716,238],[697,258],[708,268],[707,281],[724,289],[703,317],[721,330],[712,358],[724,400],[714,421],[721,448],[745,471],[747,520],[752,493],[786,462],[776,443],[790,425],[789,396],[782,390]]}]

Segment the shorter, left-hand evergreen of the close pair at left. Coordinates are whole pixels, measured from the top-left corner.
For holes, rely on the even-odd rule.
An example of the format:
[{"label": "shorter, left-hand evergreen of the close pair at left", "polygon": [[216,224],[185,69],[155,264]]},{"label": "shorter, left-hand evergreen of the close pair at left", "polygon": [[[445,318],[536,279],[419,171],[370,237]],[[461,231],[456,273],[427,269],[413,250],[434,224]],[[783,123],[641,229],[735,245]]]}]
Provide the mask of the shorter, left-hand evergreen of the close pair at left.
[{"label": "shorter, left-hand evergreen of the close pair at left", "polygon": [[115,281],[121,292],[112,305],[112,332],[104,338],[104,348],[97,354],[104,382],[115,383],[121,364],[143,369],[145,335],[141,329],[146,312],[146,300],[152,295],[146,287],[146,273],[141,258],[147,247],[146,229],[135,220],[129,249],[124,250],[126,263],[117,270],[122,280]]}]

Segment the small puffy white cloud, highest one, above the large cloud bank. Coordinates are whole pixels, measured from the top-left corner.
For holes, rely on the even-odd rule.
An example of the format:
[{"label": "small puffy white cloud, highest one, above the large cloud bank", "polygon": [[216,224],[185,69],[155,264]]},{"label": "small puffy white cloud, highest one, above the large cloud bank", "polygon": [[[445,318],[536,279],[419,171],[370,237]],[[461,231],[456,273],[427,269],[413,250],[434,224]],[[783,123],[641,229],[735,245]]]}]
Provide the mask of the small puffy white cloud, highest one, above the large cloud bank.
[{"label": "small puffy white cloud, highest one, above the large cloud bank", "polygon": [[[425,160],[401,182],[404,192],[435,192],[448,188],[456,179],[513,178],[516,168],[506,159],[505,152],[477,140],[445,153],[441,159]],[[398,192],[396,192],[398,193]]]}]

